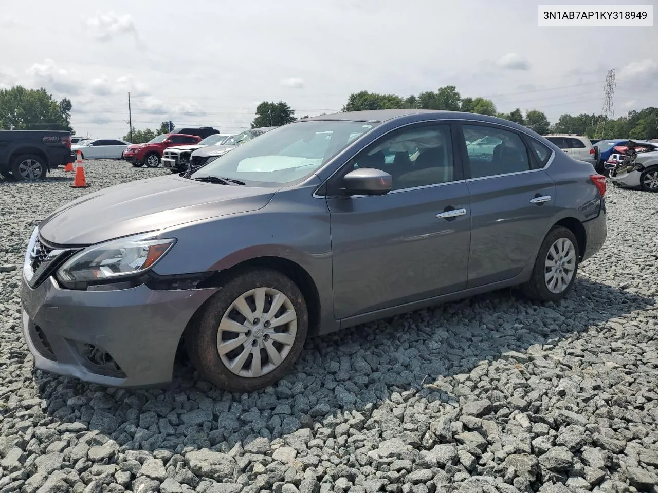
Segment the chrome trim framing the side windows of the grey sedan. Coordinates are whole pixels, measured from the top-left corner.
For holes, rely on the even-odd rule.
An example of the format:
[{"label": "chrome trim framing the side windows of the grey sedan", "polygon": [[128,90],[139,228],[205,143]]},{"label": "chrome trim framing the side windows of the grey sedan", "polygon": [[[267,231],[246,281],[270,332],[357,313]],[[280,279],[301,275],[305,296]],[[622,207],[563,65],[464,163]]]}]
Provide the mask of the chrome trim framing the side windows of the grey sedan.
[{"label": "chrome trim framing the side windows of the grey sedan", "polygon": [[[450,119],[450,120],[447,120],[447,119],[445,119],[445,120],[443,120],[443,119],[438,119],[438,120],[437,120],[437,119],[432,119],[432,120],[420,120],[420,121],[418,121],[418,122],[411,122],[411,123],[404,124],[404,125],[401,125],[401,126],[399,126],[399,127],[395,127],[395,128],[393,128],[393,129],[390,129],[389,131],[387,131],[387,132],[385,132],[385,133],[382,133],[382,135],[380,135],[379,137],[377,137],[377,139],[380,139],[380,138],[382,138],[382,137],[388,135],[389,133],[391,133],[391,132],[393,132],[393,131],[397,131],[397,130],[399,130],[399,129],[402,129],[402,128],[405,128],[405,127],[408,127],[408,126],[411,126],[411,125],[428,124],[428,123],[435,123],[435,122],[436,122],[437,124],[444,124],[444,125],[450,125],[450,124],[452,124],[452,123],[461,123],[461,122],[473,122],[473,123],[476,123],[476,124],[484,124],[485,126],[487,126],[487,125],[494,125],[494,126],[498,126],[498,127],[501,127],[501,128],[503,128],[503,129],[506,129],[506,130],[509,130],[509,131],[516,131],[516,132],[519,132],[519,133],[523,133],[524,135],[527,135],[528,138],[537,141],[537,142],[540,143],[541,145],[544,145],[544,147],[548,147],[548,146],[545,145],[544,143],[538,141],[538,140],[536,139],[536,137],[534,137],[533,135],[530,135],[530,133],[528,133],[527,131],[524,131],[524,130],[522,130],[522,129],[512,128],[512,127],[509,127],[509,126],[507,126],[507,125],[505,125],[505,124],[501,124],[501,123],[498,123],[498,122],[483,122],[482,120],[473,120],[472,118],[456,118],[456,119]],[[383,123],[384,123],[384,122],[381,122],[381,124],[383,124]],[[365,134],[363,134],[363,135],[365,135]],[[361,137],[363,137],[363,135],[361,135]],[[361,137],[357,138],[356,141],[358,141]],[[355,141],[355,142],[356,142],[356,141]],[[371,143],[372,143],[372,142],[371,142]],[[368,144],[368,145],[370,145],[370,144]],[[345,166],[345,164],[347,164],[347,163],[348,163],[349,161],[351,161],[351,160],[352,160],[357,154],[359,154],[361,151],[363,151],[363,149],[365,149],[365,148],[364,148],[364,147],[361,147],[361,149],[359,149],[359,151],[357,151],[357,152],[355,152],[354,154],[352,154],[351,156],[349,156],[349,158],[347,158],[347,160],[345,160],[345,162],[343,162],[343,164],[342,164],[341,166],[339,166],[339,167],[336,169],[336,171],[334,171],[332,174],[330,174],[330,176],[329,176],[326,180],[322,181],[322,183],[320,183],[320,185],[318,185],[318,187],[316,187],[316,189],[313,191],[313,195],[311,195],[311,197],[313,197],[314,199],[328,199],[329,197],[334,198],[335,196],[333,196],[333,195],[317,195],[317,191],[318,191],[320,188],[322,188],[322,186],[323,186],[327,181],[329,181],[330,179],[332,179],[332,178],[334,177],[334,175],[335,175],[336,173],[338,173],[338,172],[343,168],[343,166]],[[537,168],[536,170],[517,171],[517,172],[513,172],[513,173],[503,173],[503,174],[499,174],[499,175],[491,175],[491,176],[482,176],[482,177],[476,177],[476,178],[461,179],[461,180],[458,180],[458,181],[447,181],[447,182],[445,182],[445,183],[434,183],[434,184],[432,184],[432,185],[422,185],[422,186],[420,186],[420,187],[411,187],[411,188],[407,188],[407,189],[392,190],[392,191],[390,191],[390,192],[388,192],[388,193],[386,193],[386,194],[384,194],[384,195],[388,195],[389,193],[397,193],[397,192],[401,192],[401,191],[413,190],[413,189],[424,189],[424,188],[428,188],[428,187],[436,187],[436,186],[440,186],[440,185],[448,185],[449,183],[461,183],[461,182],[468,182],[468,181],[478,181],[478,180],[482,180],[482,179],[497,178],[497,177],[501,177],[501,176],[514,176],[514,175],[520,175],[520,174],[530,173],[530,172],[545,171],[545,170],[547,170],[547,169],[549,168],[549,166],[551,166],[551,164],[553,163],[553,160],[555,159],[555,156],[557,155],[557,154],[555,153],[555,150],[554,150],[554,149],[551,149],[551,147],[548,147],[548,149],[549,149],[549,151],[551,151],[551,157],[548,158],[548,160],[547,160],[547,162],[546,162],[546,164],[544,165],[543,168]],[[530,149],[530,151],[532,151],[532,149]],[[454,152],[455,152],[455,149],[453,149],[453,156],[454,156]],[[454,161],[454,158],[453,158],[453,161]],[[318,168],[317,170],[315,170],[314,174],[317,174],[317,172],[320,172],[321,170],[323,170],[324,168],[327,168],[327,167],[330,166],[330,165],[331,165],[331,161],[325,163],[324,166],[321,166],[320,168]],[[453,170],[454,170],[454,162],[453,162]],[[356,199],[357,197],[374,197],[374,196],[373,196],[373,195],[349,195],[349,198],[354,198],[354,199]]]}]

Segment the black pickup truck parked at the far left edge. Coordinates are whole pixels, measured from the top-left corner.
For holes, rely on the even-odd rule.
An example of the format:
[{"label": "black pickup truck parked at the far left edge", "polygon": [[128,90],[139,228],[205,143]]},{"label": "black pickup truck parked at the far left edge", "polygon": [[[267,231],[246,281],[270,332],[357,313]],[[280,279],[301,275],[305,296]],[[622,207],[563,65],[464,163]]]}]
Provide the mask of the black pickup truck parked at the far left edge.
[{"label": "black pickup truck parked at the far left edge", "polygon": [[43,179],[51,168],[74,160],[68,131],[0,130],[0,175],[5,178]]}]

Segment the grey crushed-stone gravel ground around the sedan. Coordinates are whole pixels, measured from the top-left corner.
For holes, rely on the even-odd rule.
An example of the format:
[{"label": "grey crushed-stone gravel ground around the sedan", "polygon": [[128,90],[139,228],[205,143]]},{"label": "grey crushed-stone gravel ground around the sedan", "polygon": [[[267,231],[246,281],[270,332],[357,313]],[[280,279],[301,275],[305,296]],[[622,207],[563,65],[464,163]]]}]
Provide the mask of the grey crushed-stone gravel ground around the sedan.
[{"label": "grey crushed-stone gravel ground around the sedan", "polygon": [[[34,371],[19,279],[32,228],[153,175],[86,162],[0,179],[0,493],[658,492],[658,194],[609,186],[609,237],[559,306],[478,296],[310,340],[256,394],[126,391]],[[653,489],[652,489],[653,488]]]}]

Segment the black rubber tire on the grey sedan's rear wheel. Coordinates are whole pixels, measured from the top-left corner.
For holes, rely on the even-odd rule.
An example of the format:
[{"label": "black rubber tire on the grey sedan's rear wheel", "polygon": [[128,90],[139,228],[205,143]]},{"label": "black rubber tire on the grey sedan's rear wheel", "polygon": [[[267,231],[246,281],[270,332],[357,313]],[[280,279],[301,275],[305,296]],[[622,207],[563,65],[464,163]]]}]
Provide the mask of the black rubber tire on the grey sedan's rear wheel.
[{"label": "black rubber tire on the grey sedan's rear wheel", "polygon": [[[572,258],[572,262],[564,264],[564,266],[569,267],[568,269],[564,269],[563,267],[563,272],[566,275],[568,282],[563,283],[560,287],[556,286],[555,291],[551,291],[551,289],[549,289],[549,284],[552,283],[549,281],[552,281],[555,276],[547,279],[547,267],[545,267],[545,264],[547,260],[549,260],[549,250],[555,248],[556,244],[559,245],[562,242],[569,242],[571,249],[571,254],[568,257]],[[556,255],[555,250],[553,249],[551,252],[551,258],[557,258],[560,260],[561,256]],[[542,246],[539,249],[534,268],[532,269],[532,275],[530,276],[530,281],[521,286],[521,291],[531,300],[558,302],[569,294],[569,291],[571,291],[574,282],[576,281],[578,275],[578,258],[580,258],[580,252],[578,251],[578,241],[576,240],[574,233],[566,227],[553,226],[544,238]],[[571,277],[569,277],[569,272],[571,273]],[[560,276],[560,279],[564,279],[564,277]],[[556,292],[557,289],[561,289],[561,291]]]}]

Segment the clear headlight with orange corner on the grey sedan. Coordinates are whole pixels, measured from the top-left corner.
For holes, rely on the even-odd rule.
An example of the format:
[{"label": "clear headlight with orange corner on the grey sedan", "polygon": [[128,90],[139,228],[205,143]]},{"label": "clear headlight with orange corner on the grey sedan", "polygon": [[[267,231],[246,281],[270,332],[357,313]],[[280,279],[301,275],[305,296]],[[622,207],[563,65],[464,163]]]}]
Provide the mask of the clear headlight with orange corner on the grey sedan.
[{"label": "clear headlight with orange corner on the grey sedan", "polygon": [[174,238],[138,235],[93,245],[68,259],[57,271],[57,277],[64,284],[119,281],[152,268],[174,243]]}]

